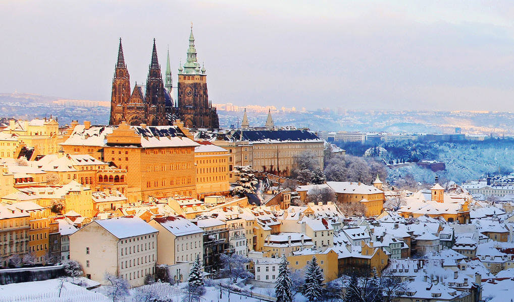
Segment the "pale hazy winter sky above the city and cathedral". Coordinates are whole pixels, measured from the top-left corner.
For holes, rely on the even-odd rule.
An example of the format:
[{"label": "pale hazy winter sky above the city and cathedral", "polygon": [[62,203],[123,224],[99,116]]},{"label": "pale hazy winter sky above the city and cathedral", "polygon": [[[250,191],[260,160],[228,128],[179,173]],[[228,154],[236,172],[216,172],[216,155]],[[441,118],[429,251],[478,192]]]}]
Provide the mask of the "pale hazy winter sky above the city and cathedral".
[{"label": "pale hazy winter sky above the city and cathedral", "polygon": [[190,22],[213,103],[514,111],[514,2],[0,1],[0,92],[110,100]]}]

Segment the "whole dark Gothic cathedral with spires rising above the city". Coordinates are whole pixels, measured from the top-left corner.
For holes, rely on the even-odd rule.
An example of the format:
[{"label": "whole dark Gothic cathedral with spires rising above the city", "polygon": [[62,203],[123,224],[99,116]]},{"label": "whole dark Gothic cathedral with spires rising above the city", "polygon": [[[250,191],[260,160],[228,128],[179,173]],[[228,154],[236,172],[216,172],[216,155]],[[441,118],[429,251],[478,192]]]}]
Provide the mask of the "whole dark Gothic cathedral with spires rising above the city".
[{"label": "whole dark Gothic cathedral with spires rising above the city", "polygon": [[181,119],[188,128],[219,128],[216,108],[212,107],[207,94],[205,71],[205,67],[200,67],[196,59],[193,27],[191,26],[187,61],[178,68],[176,104],[172,97],[170,53],[168,52],[164,82],[155,39],[146,85],[136,83],[131,92],[130,75],[123,57],[120,38],[118,61],[113,78],[109,124],[118,125],[124,120],[130,125],[166,126],[172,125],[175,119]]}]

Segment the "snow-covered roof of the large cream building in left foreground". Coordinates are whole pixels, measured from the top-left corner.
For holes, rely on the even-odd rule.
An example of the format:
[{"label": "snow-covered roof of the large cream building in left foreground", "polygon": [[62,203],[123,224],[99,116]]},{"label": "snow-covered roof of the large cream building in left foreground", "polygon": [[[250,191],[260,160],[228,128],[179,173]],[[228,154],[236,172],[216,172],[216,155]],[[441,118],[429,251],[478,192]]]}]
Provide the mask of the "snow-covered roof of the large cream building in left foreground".
[{"label": "snow-covered roof of the large cream building in left foreground", "polygon": [[158,232],[143,219],[137,217],[117,217],[95,220],[95,222],[119,239]]}]

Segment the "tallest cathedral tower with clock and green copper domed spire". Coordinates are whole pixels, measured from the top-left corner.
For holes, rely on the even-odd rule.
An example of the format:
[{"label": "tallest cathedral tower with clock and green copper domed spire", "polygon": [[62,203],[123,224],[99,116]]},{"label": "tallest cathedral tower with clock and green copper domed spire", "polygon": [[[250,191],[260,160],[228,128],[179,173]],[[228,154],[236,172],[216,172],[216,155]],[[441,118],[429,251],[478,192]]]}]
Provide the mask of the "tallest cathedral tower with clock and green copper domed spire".
[{"label": "tallest cathedral tower with clock and green copper domed spire", "polygon": [[193,25],[186,63],[178,68],[178,115],[188,128],[219,128],[218,114],[209,102],[205,67],[196,58]]}]

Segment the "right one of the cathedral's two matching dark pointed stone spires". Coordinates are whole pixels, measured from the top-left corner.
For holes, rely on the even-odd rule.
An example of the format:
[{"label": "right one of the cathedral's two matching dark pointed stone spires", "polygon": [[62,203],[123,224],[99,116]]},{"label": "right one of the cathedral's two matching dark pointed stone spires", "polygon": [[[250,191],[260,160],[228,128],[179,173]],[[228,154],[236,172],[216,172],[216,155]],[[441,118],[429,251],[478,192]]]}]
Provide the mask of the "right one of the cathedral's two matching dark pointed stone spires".
[{"label": "right one of the cathedral's two matching dark pointed stone spires", "polygon": [[164,97],[164,83],[160,71],[159,59],[157,57],[157,47],[152,50],[152,61],[146,78],[146,113],[149,126],[168,125],[166,120],[166,98]]}]

